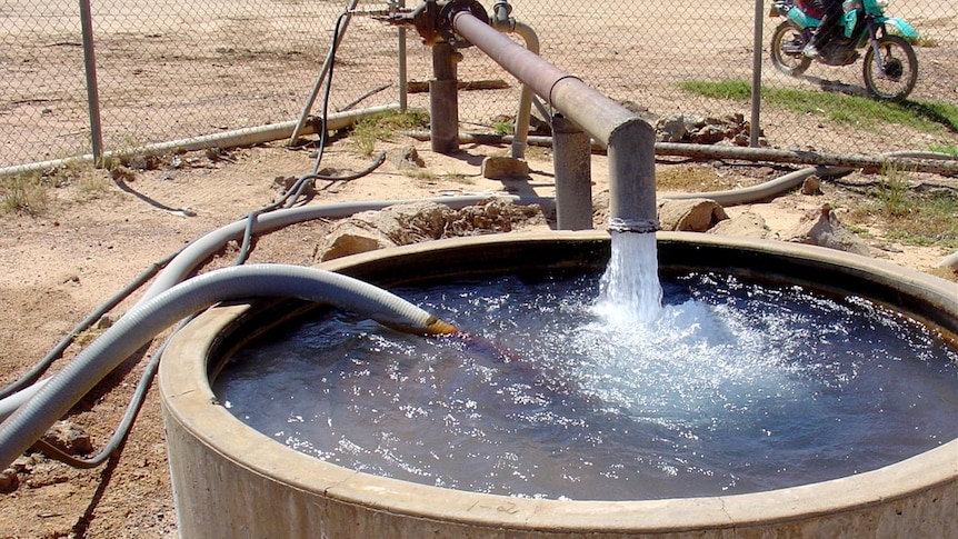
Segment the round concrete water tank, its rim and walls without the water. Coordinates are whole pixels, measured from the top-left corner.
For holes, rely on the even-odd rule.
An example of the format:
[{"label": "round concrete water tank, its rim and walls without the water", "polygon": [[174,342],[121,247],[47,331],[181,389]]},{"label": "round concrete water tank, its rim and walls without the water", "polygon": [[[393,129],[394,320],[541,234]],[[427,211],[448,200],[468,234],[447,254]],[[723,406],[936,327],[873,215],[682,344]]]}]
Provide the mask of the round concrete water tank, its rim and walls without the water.
[{"label": "round concrete water tank, its rim and walls without the water", "polygon": [[[325,266],[382,287],[450,277],[601,268],[605,232],[443,240]],[[955,347],[958,287],[838,251],[658,234],[660,272],[761,276],[856,295],[940,330]],[[955,537],[958,440],[882,468],[751,493],[635,501],[530,499],[376,477],[298,452],[237,419],[210,379],[302,303],[217,307],[170,345],[160,369],[182,537]]]}]

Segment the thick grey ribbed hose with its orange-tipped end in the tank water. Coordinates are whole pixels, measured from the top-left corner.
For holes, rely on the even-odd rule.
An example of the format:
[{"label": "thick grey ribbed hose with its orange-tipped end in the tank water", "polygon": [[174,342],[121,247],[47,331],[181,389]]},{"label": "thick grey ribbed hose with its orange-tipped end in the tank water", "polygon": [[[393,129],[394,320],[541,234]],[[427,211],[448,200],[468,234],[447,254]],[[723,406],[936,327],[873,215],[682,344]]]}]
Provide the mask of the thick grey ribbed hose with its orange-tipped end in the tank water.
[{"label": "thick grey ribbed hose with its orange-tipped end in the tank water", "polygon": [[156,335],[220,301],[253,297],[296,297],[331,303],[401,331],[432,335],[458,331],[386,290],[330,271],[286,264],[211,271],[134,307],[7,418],[0,425],[0,469],[29,449],[108,372]]}]

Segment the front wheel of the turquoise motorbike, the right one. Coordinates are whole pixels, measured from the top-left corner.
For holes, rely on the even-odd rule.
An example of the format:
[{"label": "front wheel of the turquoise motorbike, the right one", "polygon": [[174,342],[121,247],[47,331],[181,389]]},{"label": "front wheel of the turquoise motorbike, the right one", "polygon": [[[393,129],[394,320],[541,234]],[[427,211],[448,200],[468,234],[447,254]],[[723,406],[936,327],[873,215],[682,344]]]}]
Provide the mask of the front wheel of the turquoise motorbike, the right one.
[{"label": "front wheel of the turquoise motorbike, the right one", "polygon": [[900,36],[884,36],[878,38],[878,54],[885,76],[879,74],[875,63],[875,48],[869,46],[862,67],[865,87],[882,101],[901,101],[911,93],[918,81],[918,57],[915,56],[915,49]]}]

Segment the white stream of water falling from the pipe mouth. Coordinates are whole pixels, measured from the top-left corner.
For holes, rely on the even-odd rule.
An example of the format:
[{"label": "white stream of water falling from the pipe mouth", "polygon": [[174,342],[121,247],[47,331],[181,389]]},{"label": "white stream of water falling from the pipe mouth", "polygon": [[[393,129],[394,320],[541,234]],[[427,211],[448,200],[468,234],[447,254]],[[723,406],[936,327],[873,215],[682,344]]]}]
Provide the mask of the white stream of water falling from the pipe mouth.
[{"label": "white stream of water falling from the pipe mouth", "polygon": [[612,233],[612,254],[602,279],[596,313],[615,326],[651,322],[661,316],[656,234]]}]

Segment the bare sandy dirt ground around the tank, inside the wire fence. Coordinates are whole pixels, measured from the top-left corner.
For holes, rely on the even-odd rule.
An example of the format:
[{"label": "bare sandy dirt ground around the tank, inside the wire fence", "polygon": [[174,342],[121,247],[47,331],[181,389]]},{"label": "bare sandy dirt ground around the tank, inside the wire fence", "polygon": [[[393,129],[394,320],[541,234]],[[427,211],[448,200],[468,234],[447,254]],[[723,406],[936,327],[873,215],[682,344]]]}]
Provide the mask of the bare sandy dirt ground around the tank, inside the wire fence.
[{"label": "bare sandy dirt ground around the tank, inside the wire fence", "polygon": [[[455,156],[429,151],[428,142],[397,138],[386,148],[415,146],[431,173],[410,176],[387,160],[375,173],[349,182],[320,182],[310,203],[345,200],[390,200],[455,193],[537,193],[551,196],[551,157],[531,148],[531,174],[523,180],[489,180],[479,173],[483,157],[503,154],[507,148],[463,146]],[[73,179],[56,190],[56,200],[40,216],[0,217],[0,385],[12,381],[33,365],[97,305],[117,292],[151,263],[206,232],[270,203],[278,194],[277,177],[309,172],[309,150],[289,150],[280,143],[238,149],[227,153],[196,152],[171,157],[150,170],[132,170],[122,186],[102,170],[69,171]],[[369,158],[352,150],[350,141],[333,142],[325,167],[341,172],[363,168]],[[784,173],[769,166],[705,163],[724,174],[729,184],[751,184]],[[659,170],[677,167],[662,159]],[[603,190],[603,156],[592,163],[593,192]],[[852,179],[856,176],[852,174]],[[954,181],[942,180],[941,181]],[[100,186],[91,189],[89,186]],[[801,216],[821,203],[849,196],[831,183],[824,194],[788,193],[770,202],[729,208],[729,214],[750,210],[764,216],[772,231],[785,233]],[[838,204],[841,206],[841,204]],[[311,263],[327,222],[292,226],[262,237],[251,262]],[[537,223],[530,227],[542,228]],[[521,228],[521,227],[520,227]],[[875,256],[901,266],[929,270],[948,252],[938,248],[906,247],[881,239],[872,228]],[[224,263],[236,246],[220,257]],[[142,290],[141,290],[142,291]],[[122,315],[141,291],[112,315]],[[144,361],[124,363],[83,402],[69,420],[106,442],[119,421]],[[71,347],[71,357],[79,347]],[[62,361],[53,370],[59,369]],[[74,470],[36,455],[22,459],[19,487],[0,495],[0,536],[33,537],[174,537],[177,517],[163,445],[160,403],[151,390],[122,450],[93,470]]]}]

